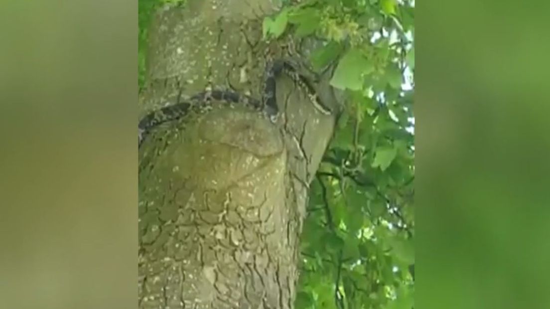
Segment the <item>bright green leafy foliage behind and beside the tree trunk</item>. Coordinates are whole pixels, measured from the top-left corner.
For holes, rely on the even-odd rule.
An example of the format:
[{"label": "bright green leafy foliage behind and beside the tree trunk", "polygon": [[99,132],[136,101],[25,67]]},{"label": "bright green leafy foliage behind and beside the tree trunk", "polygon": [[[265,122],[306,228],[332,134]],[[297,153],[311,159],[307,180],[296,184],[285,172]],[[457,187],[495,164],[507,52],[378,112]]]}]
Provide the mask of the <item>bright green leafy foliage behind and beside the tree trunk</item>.
[{"label": "bright green leafy foliage behind and beside the tree trunk", "polygon": [[[173,2],[173,1],[171,1]],[[162,4],[140,0],[140,86],[146,26]],[[296,309],[414,307],[414,1],[285,2],[265,36],[315,36],[322,71],[346,106],[310,191]]]}]

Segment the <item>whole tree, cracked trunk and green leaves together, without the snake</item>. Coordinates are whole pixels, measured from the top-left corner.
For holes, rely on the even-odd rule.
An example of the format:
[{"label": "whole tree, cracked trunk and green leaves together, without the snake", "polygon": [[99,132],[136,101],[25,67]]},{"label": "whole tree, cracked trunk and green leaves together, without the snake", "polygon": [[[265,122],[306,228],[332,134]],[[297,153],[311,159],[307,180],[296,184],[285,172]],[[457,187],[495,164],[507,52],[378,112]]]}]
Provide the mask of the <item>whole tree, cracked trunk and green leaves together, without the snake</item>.
[{"label": "whole tree, cracked trunk and green leaves together, without the snake", "polygon": [[140,23],[140,117],[300,73],[274,124],[201,99],[140,146],[140,308],[410,308],[412,6],[141,1]]}]

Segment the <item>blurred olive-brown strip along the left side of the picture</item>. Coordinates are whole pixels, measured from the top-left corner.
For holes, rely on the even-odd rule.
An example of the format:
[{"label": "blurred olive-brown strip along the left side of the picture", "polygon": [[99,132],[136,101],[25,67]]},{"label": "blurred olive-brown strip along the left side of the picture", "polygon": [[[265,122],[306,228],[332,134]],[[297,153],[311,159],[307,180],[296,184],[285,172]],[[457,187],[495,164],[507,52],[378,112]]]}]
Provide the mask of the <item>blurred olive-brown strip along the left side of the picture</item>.
[{"label": "blurred olive-brown strip along the left side of the picture", "polygon": [[138,7],[0,5],[0,308],[135,308]]}]

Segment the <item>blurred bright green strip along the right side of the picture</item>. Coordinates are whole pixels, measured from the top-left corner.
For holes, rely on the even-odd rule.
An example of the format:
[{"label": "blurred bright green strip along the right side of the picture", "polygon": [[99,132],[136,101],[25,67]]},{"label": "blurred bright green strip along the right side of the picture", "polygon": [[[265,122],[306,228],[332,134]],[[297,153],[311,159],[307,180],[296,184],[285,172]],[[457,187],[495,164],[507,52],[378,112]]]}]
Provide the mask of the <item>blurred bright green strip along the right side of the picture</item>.
[{"label": "blurred bright green strip along the right side of the picture", "polygon": [[548,3],[416,10],[416,305],[550,308]]}]

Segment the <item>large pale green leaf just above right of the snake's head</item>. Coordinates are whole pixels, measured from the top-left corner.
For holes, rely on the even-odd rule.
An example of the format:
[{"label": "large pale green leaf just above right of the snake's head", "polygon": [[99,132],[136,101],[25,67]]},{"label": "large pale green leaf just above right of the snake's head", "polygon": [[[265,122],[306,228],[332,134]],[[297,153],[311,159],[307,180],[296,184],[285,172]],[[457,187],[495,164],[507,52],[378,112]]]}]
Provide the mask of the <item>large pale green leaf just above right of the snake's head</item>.
[{"label": "large pale green leaf just above right of the snake's head", "polygon": [[331,85],[338,89],[360,90],[364,84],[364,76],[374,70],[357,48],[351,48],[340,60],[331,79]]}]

